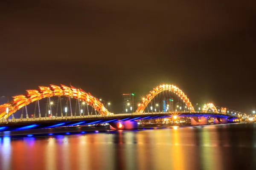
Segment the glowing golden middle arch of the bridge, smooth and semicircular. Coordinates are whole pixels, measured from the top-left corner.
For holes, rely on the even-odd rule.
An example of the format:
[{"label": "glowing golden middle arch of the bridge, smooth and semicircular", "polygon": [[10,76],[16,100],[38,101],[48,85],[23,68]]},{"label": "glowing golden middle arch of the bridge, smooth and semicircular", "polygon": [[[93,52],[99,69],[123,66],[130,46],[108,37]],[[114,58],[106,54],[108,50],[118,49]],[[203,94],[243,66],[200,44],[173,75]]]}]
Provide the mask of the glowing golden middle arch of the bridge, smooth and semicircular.
[{"label": "glowing golden middle arch of the bridge, smooth and semicircular", "polygon": [[[143,101],[138,105],[139,107],[137,108],[138,113],[143,113],[144,109],[147,107],[148,103],[154,99],[154,97],[161,93],[162,91],[172,91],[176,93],[182,100],[183,102],[186,103],[187,107],[189,108],[190,112],[195,112],[194,107],[192,106],[191,102],[187,98],[187,96],[181,91],[179,88],[177,88],[175,85],[160,85],[154,88],[152,91],[149,92],[148,95],[143,98]],[[179,107],[179,106],[177,106]]]}]

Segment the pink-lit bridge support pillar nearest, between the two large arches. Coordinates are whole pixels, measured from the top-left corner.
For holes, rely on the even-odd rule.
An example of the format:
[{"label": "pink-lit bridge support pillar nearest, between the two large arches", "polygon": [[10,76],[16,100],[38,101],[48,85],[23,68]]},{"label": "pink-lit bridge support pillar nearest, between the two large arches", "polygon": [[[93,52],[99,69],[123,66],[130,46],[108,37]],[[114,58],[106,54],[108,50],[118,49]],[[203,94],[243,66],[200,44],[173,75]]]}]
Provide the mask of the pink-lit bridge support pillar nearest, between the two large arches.
[{"label": "pink-lit bridge support pillar nearest, between the two large arches", "polygon": [[136,121],[110,122],[109,127],[111,130],[138,129],[138,122]]}]

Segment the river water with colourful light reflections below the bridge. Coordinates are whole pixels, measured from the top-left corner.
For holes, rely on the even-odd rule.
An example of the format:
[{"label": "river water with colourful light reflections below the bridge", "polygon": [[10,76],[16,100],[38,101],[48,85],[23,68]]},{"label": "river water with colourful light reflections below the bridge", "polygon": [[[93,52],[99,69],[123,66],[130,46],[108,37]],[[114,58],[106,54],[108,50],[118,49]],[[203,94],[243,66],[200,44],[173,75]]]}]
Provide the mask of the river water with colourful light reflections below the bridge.
[{"label": "river water with colourful light reflections below the bridge", "polygon": [[0,170],[255,170],[255,160],[255,123],[0,138]]}]

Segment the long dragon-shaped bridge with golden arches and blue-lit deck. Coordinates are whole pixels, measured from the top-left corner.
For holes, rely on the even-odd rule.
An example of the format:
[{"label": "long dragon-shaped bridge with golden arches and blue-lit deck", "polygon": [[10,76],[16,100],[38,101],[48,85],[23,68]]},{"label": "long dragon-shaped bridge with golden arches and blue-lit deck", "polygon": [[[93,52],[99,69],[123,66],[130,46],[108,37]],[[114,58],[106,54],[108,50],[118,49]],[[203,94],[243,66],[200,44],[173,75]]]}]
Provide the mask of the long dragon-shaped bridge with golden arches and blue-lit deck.
[{"label": "long dragon-shaped bridge with golden arches and blue-lit deck", "polygon": [[[46,101],[39,102],[43,100]],[[214,119],[215,124],[233,122],[239,118],[226,113],[226,108],[218,112],[212,103],[195,111],[187,96],[175,85],[157,86],[142,98],[136,112],[125,114],[110,113],[99,99],[81,88],[50,85],[27,90],[25,94],[13,96],[11,101],[0,105],[0,131],[96,123],[109,123],[111,129],[137,129],[137,122],[143,119],[180,117],[189,117],[191,125],[207,125],[209,117]]]}]

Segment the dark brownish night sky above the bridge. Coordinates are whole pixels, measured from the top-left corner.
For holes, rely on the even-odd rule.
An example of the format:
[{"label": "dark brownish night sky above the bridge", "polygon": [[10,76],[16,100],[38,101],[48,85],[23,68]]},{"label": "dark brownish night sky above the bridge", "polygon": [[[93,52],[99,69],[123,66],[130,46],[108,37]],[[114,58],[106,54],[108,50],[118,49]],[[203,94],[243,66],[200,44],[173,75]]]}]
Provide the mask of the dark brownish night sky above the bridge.
[{"label": "dark brownish night sky above the bridge", "polygon": [[64,84],[111,100],[173,83],[192,105],[256,107],[256,1],[1,0],[0,96]]}]

